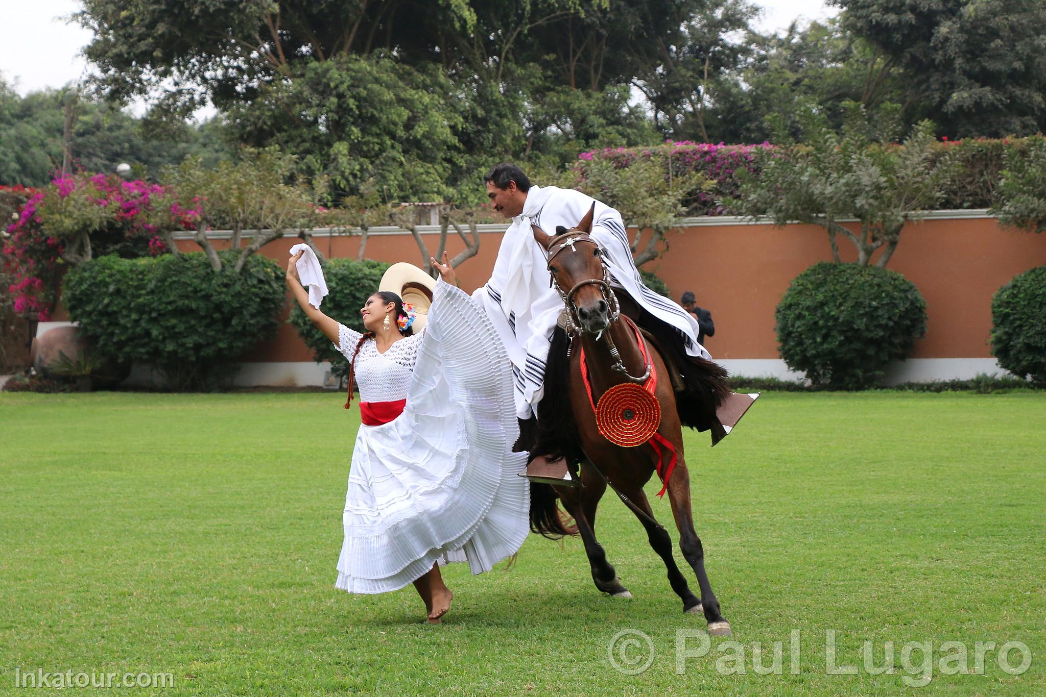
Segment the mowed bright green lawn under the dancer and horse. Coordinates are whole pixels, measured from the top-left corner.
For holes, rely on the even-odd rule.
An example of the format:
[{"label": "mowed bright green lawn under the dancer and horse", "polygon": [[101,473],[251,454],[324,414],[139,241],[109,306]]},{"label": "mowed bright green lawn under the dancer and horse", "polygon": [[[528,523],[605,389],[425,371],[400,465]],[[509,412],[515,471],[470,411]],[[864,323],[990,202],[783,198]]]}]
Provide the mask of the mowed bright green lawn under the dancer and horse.
[{"label": "mowed bright green lawn under the dancer and horse", "polygon": [[[902,659],[907,642],[930,643],[929,690],[1046,692],[1042,393],[769,393],[714,449],[688,434],[698,532],[738,642],[689,658],[677,641],[700,652],[704,619],[682,613],[610,492],[596,530],[632,601],[595,590],[578,540],[533,535],[508,571],[445,571],[442,626],[419,622],[411,588],[336,590],[359,422],[343,399],[0,395],[0,692],[18,669],[170,673],[164,692],[186,695],[870,694],[926,672],[922,651]],[[621,630],[650,637],[614,654],[641,667],[653,646],[644,672],[612,666]],[[827,674],[829,630],[858,674]],[[866,641],[879,667],[892,642],[892,674],[861,668]],[[1007,674],[988,651],[978,670],[975,643],[1010,641],[1030,668]],[[755,643],[770,666],[775,642],[781,674],[760,675]],[[958,651],[945,642],[968,648],[967,672],[941,670]]]}]

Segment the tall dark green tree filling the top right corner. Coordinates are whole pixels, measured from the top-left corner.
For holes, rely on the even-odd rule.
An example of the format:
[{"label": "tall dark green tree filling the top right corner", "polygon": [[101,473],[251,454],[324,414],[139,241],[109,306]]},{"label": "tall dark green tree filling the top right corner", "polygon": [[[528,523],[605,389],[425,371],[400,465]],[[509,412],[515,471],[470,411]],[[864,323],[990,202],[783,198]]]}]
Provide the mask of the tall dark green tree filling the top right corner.
[{"label": "tall dark green tree filling the top right corner", "polygon": [[833,0],[900,72],[908,122],[951,137],[1046,127],[1046,0]]}]

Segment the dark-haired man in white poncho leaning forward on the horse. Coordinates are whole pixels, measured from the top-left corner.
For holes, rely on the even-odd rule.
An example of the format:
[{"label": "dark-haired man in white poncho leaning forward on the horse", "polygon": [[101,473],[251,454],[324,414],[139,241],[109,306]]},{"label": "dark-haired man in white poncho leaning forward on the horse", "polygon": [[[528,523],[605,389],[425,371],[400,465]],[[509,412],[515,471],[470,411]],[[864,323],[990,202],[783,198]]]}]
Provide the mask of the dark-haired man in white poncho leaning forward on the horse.
[{"label": "dark-haired man in white poncho leaning forward on the horse", "polygon": [[[729,393],[726,371],[711,362],[698,342],[700,328],[693,316],[643,284],[620,213],[573,189],[532,186],[515,164],[495,166],[484,181],[494,209],[513,218],[513,224],[501,241],[491,280],[477,288],[473,298],[491,317],[513,364],[521,434],[517,449],[529,450],[531,458],[563,455],[560,444],[542,443],[539,447],[538,405],[549,388],[556,389],[545,385],[545,374],[547,364],[560,358],[549,356],[549,347],[564,305],[549,284],[547,254],[535,240],[531,226],[555,235],[572,229],[590,210],[591,237],[602,251],[621,312],[646,332],[668,364],[681,423],[711,429],[713,443],[722,438],[715,408]],[[564,243],[569,245],[570,238]],[[604,302],[595,309],[579,311],[609,317],[612,309]]]}]

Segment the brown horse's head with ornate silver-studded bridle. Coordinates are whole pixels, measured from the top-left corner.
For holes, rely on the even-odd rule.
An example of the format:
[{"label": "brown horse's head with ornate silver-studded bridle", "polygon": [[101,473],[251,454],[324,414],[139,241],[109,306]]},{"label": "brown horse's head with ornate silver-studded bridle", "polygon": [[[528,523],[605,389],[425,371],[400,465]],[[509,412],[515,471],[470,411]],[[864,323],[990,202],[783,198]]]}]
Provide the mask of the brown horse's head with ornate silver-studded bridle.
[{"label": "brown horse's head with ornate silver-studded bridle", "polygon": [[[617,319],[619,309],[610,288],[610,272],[602,260],[602,249],[591,237],[595,204],[573,228],[562,225],[548,235],[530,226],[533,238],[548,255],[551,283],[570,312],[573,325],[598,334]],[[564,291],[564,288],[569,288]]]}]

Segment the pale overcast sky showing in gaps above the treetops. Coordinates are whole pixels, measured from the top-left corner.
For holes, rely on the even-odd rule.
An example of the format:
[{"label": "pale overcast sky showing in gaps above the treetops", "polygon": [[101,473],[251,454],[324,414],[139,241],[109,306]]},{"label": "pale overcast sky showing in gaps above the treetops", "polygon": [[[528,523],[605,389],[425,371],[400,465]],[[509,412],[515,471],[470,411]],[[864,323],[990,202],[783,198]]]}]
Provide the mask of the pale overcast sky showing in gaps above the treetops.
[{"label": "pale overcast sky showing in gaps above the treetops", "polygon": [[[784,28],[796,17],[824,19],[836,14],[821,0],[756,0],[764,16],[763,30]],[[87,64],[78,55],[91,33],[66,17],[77,11],[78,0],[0,0],[0,73],[15,83],[20,94],[45,87],[62,87],[86,74]]]}]

